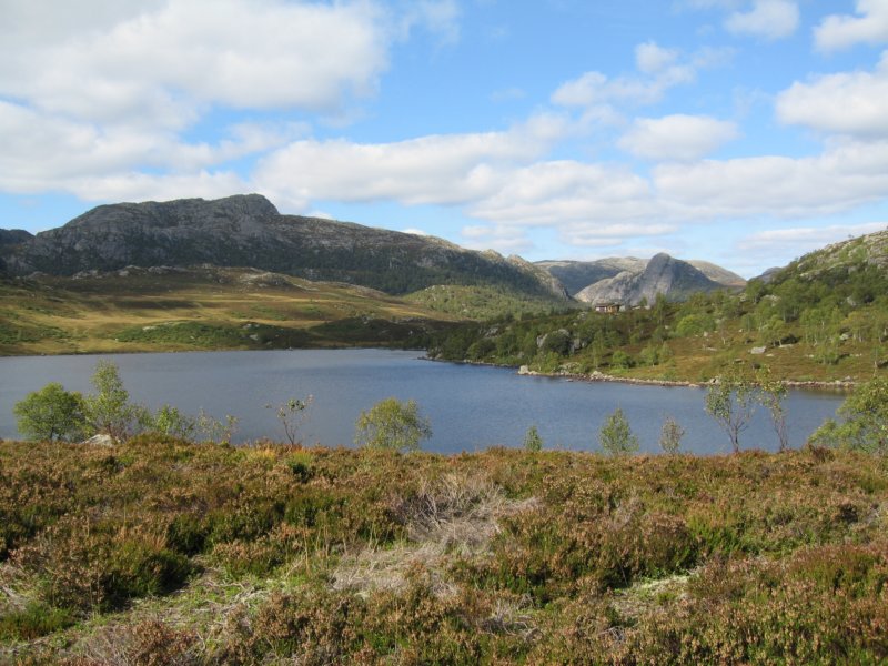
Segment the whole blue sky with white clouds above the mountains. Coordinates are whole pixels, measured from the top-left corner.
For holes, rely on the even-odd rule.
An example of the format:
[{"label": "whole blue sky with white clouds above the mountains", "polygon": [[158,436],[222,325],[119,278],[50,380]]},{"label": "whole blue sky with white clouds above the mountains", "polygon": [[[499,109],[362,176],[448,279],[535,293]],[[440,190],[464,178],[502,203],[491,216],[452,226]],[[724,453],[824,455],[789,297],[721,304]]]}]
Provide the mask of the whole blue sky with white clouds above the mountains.
[{"label": "whole blue sky with white clouds above the mountains", "polygon": [[0,0],[0,228],[120,201],[751,278],[888,226],[888,0]]}]

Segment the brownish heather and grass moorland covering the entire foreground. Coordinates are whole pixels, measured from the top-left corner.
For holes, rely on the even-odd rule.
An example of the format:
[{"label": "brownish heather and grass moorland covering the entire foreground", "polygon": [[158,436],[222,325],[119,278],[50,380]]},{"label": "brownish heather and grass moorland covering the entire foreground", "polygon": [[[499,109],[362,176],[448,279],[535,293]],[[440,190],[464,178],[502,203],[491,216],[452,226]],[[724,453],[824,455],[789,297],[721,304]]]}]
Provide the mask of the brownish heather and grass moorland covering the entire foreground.
[{"label": "brownish heather and grass moorland covering the entire foreground", "polygon": [[888,659],[888,457],[0,444],[0,662]]}]

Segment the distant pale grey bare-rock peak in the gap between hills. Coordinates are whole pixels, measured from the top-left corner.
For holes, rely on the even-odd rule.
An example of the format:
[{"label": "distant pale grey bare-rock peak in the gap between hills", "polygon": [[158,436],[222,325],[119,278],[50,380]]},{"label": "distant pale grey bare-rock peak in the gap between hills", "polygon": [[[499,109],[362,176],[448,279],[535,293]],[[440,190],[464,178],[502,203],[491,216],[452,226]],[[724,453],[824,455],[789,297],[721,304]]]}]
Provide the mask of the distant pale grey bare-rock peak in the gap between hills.
[{"label": "distant pale grey bare-rock peak in the gap between hills", "polygon": [[586,303],[637,305],[643,299],[653,303],[658,293],[672,300],[682,300],[694,292],[709,292],[724,286],[690,263],[660,253],[647,262],[643,272],[624,271],[614,278],[591,284],[575,297]]}]

